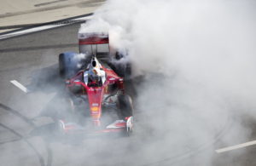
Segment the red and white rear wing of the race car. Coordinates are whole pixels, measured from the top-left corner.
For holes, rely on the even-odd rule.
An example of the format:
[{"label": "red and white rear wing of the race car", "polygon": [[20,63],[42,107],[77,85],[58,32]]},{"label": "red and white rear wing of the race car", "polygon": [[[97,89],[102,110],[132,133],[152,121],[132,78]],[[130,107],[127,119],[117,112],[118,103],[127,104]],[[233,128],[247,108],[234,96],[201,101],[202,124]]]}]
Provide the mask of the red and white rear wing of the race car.
[{"label": "red and white rear wing of the race car", "polygon": [[79,52],[83,54],[108,54],[108,33],[79,33]]}]

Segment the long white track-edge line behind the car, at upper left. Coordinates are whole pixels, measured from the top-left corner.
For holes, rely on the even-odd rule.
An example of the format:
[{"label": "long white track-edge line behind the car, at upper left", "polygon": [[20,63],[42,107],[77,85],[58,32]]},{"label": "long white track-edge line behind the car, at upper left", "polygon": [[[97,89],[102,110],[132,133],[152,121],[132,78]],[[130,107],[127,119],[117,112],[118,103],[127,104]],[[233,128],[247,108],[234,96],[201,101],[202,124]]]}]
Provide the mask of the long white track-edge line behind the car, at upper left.
[{"label": "long white track-edge line behind the car, at upper left", "polygon": [[[85,20],[90,20],[91,17],[92,16],[84,16],[84,17],[80,17],[80,18],[77,18],[77,19],[73,19],[73,20],[84,20],[85,21]],[[35,31],[48,30],[48,29],[52,29],[52,28],[55,28],[55,27],[58,27],[58,26],[67,26],[67,25],[73,24],[73,20],[66,20],[67,24],[56,24],[56,25],[49,25],[49,26],[38,26],[38,27],[26,29],[26,30],[15,31],[15,32],[12,32],[12,33],[1,35],[0,36],[0,40],[4,39],[4,38],[15,37],[15,36],[20,36],[20,35],[32,33],[32,32],[35,32]],[[66,21],[63,21],[63,22],[66,22]],[[68,21],[70,23],[68,23]]]}]

